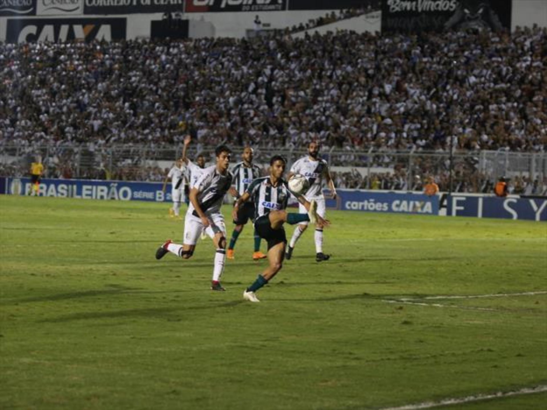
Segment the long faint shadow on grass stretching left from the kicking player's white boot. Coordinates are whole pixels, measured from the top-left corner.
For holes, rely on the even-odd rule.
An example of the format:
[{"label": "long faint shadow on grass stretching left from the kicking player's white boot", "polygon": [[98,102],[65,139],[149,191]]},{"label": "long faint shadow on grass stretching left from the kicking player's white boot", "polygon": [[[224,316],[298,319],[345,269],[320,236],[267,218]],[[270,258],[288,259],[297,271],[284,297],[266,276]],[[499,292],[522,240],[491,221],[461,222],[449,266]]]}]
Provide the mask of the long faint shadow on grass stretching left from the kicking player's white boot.
[{"label": "long faint shadow on grass stretching left from the kicking player's white boot", "polygon": [[71,315],[60,316],[53,319],[38,320],[38,323],[63,323],[74,320],[90,320],[90,319],[118,319],[118,318],[142,318],[156,317],[163,318],[169,321],[177,321],[181,318],[177,313],[184,311],[208,311],[214,309],[222,309],[234,307],[238,304],[245,303],[242,300],[230,301],[225,303],[207,304],[205,306],[189,306],[185,308],[149,308],[149,309],[128,309],[126,311],[110,311],[110,312],[83,312],[74,313]]}]

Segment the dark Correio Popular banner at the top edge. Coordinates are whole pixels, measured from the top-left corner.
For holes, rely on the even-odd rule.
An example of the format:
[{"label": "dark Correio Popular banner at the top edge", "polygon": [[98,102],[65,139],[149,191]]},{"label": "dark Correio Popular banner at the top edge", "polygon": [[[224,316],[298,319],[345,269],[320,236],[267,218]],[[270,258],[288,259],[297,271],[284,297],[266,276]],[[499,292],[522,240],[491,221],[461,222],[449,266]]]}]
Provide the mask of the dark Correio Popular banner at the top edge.
[{"label": "dark Correio Popular banner at the top edge", "polygon": [[[0,0],[1,1],[1,0]],[[84,0],[84,14],[172,13],[183,11],[184,0]]]}]

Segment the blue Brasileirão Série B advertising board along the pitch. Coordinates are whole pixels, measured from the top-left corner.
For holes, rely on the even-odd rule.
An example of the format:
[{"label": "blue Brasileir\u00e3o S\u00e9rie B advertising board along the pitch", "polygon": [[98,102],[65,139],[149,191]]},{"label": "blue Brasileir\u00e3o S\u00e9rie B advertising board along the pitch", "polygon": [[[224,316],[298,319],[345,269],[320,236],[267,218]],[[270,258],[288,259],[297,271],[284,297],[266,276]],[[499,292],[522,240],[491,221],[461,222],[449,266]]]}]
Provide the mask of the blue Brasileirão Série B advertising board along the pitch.
[{"label": "blue Brasileir\u00e3o S\u00e9rie B advertising board along the pitch", "polygon": [[[42,179],[38,195],[90,200],[171,202],[171,192],[162,192],[160,182]],[[3,192],[30,195],[30,178],[4,178]]]}]

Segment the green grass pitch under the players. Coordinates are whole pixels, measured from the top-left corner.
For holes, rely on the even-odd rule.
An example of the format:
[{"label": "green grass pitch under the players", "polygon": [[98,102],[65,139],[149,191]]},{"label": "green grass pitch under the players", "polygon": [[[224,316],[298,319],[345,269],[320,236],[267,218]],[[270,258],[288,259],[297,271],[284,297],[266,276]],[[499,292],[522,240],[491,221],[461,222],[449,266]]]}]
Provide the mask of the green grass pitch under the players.
[{"label": "green grass pitch under the players", "polygon": [[0,408],[382,409],[547,385],[544,222],[330,212],[331,260],[307,231],[252,304],[251,227],[211,292],[211,241],[154,259],[181,242],[167,208],[0,197]]}]

